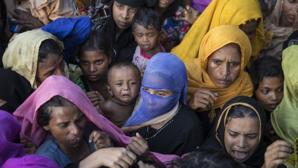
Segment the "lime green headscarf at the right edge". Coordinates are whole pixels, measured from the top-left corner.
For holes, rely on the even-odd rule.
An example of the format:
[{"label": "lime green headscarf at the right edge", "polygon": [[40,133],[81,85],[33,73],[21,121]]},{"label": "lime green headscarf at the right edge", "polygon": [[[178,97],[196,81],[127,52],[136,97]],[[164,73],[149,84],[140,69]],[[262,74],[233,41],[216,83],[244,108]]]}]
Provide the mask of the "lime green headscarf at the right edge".
[{"label": "lime green headscarf at the right edge", "polygon": [[279,137],[293,144],[298,137],[298,46],[282,52],[284,71],[284,97],[271,113],[272,126]]}]

